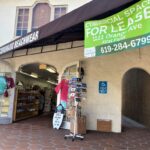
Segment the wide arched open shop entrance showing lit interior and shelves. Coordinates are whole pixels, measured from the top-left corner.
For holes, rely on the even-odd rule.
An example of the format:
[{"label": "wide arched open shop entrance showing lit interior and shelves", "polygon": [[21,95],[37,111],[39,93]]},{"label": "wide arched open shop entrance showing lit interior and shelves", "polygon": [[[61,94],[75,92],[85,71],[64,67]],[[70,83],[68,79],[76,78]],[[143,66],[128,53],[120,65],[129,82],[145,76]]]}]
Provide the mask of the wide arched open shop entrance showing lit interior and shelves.
[{"label": "wide arched open shop entrance showing lit interior and shelves", "polygon": [[42,114],[53,115],[58,73],[54,66],[41,63],[22,65],[16,72],[13,121]]}]

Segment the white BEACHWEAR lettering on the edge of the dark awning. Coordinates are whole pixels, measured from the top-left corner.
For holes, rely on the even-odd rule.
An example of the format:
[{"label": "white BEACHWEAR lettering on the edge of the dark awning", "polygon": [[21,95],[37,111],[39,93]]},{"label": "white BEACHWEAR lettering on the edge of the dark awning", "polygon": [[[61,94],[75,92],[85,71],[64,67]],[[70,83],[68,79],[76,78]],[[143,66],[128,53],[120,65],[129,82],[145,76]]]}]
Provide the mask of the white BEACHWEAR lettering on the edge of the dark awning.
[{"label": "white BEACHWEAR lettering on the edge of the dark awning", "polygon": [[34,41],[37,41],[38,39],[39,39],[39,31],[32,32],[22,38],[19,38],[16,41],[13,41],[3,47],[0,47],[0,55],[7,53],[11,50],[20,48],[20,47],[27,45],[29,43],[32,43]]}]

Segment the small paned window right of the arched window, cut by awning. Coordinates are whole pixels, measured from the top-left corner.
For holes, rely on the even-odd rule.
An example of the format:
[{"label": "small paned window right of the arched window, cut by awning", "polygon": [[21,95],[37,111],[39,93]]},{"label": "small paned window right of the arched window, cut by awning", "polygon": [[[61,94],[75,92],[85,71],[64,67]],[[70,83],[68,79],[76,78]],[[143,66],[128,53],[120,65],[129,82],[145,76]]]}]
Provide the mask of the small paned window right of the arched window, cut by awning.
[{"label": "small paned window right of the arched window, cut by awning", "polygon": [[56,7],[54,12],[54,19],[57,19],[67,13],[66,7]]}]

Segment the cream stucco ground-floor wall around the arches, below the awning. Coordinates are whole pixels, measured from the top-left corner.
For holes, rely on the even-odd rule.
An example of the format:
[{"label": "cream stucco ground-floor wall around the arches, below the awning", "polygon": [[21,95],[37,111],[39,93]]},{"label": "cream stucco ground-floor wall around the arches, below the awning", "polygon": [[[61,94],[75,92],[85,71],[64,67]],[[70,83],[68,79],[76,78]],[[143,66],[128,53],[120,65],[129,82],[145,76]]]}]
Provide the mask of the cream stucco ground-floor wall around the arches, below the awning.
[{"label": "cream stucco ground-floor wall around the arches, below the awning", "polygon": [[[67,44],[62,44],[65,47]],[[61,47],[60,46],[60,47]],[[44,47],[50,50],[53,46]],[[121,132],[122,78],[131,68],[143,68],[150,73],[150,47],[112,55],[85,59],[83,47],[6,59],[15,70],[22,64],[40,62],[55,66],[60,73],[64,66],[82,61],[87,83],[87,100],[82,102],[82,112],[87,116],[87,129],[96,130],[97,119],[111,119],[112,131]],[[99,94],[99,81],[108,82],[108,93]]]}]

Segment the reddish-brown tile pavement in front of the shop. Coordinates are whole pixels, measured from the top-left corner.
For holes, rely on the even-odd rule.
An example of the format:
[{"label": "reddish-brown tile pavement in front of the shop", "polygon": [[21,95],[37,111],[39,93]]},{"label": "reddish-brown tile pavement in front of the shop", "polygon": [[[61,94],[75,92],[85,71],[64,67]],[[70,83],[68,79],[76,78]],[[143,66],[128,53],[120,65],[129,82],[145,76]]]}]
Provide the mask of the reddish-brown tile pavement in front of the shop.
[{"label": "reddish-brown tile pavement in front of the shop", "polygon": [[121,134],[88,131],[83,141],[64,139],[67,130],[52,129],[41,116],[0,125],[0,150],[150,150],[150,130],[125,128]]}]

